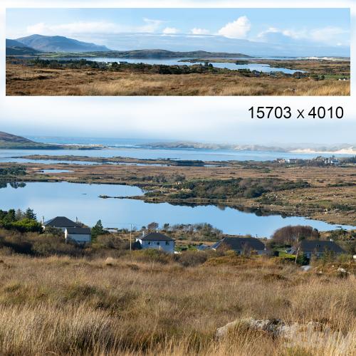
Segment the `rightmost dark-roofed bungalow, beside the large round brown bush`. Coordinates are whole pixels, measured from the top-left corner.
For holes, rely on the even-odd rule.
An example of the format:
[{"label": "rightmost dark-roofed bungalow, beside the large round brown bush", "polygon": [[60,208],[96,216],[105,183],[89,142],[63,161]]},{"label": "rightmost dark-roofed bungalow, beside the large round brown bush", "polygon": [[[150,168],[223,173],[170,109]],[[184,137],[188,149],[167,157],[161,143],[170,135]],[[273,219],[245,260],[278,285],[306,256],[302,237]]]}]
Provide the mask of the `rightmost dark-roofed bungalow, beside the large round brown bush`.
[{"label": "rightmost dark-roofed bungalow, beside the large round brown bush", "polygon": [[321,257],[325,252],[335,253],[335,255],[340,255],[340,253],[345,253],[342,248],[337,245],[334,241],[320,241],[320,240],[302,240],[300,241],[299,248],[294,246],[290,253],[302,253],[306,257],[310,258],[312,256]]}]

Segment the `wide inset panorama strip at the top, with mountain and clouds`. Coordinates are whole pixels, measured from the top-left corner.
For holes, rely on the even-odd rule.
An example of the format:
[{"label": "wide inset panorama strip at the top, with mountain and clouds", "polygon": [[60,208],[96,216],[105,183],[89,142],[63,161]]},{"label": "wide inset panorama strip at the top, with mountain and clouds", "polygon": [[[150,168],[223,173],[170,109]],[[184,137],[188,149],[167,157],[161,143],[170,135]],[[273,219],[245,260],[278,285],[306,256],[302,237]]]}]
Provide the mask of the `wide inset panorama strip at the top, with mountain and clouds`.
[{"label": "wide inset panorama strip at the top, with mountain and clouds", "polygon": [[7,9],[6,95],[350,95],[350,9]]}]

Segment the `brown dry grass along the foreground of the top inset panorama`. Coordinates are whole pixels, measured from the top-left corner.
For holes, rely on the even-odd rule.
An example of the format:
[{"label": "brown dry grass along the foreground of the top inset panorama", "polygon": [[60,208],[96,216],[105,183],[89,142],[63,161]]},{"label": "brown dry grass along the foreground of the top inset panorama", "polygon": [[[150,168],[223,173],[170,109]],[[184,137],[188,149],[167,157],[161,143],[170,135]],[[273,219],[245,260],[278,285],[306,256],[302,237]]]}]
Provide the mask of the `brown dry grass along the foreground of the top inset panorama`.
[{"label": "brown dry grass along the foreground of the top inset panorama", "polygon": [[6,95],[350,95],[350,80],[159,75],[6,64]]}]

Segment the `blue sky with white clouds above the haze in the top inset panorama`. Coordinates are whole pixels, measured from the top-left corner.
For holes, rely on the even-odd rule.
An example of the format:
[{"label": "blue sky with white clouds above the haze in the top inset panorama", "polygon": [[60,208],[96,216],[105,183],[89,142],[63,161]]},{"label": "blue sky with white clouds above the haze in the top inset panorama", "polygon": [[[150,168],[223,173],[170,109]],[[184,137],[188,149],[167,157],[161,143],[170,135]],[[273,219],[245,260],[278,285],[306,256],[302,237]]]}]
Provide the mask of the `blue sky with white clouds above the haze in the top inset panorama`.
[{"label": "blue sky with white clouds above the haze in the top inset panorama", "polygon": [[[349,9],[7,9],[6,37],[62,35],[121,48],[112,36],[219,36],[286,45],[350,46]],[[152,37],[150,38],[152,41]],[[120,47],[121,46],[121,47]],[[131,48],[127,48],[131,49]],[[178,48],[179,49],[179,48]]]}]

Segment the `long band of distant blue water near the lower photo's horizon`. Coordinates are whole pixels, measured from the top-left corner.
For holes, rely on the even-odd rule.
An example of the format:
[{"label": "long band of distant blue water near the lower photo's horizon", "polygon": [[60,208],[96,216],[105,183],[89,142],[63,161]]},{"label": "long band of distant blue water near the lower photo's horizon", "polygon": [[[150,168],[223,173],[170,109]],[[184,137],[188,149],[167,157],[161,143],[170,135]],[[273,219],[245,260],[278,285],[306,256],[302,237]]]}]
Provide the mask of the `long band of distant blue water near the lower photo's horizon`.
[{"label": "long band of distant blue water near the lower photo's horizon", "polygon": [[[54,142],[54,141],[52,141]],[[79,142],[78,142],[79,143]],[[100,143],[100,142],[98,142]],[[236,151],[236,150],[202,150],[202,149],[151,149],[144,147],[116,147],[105,148],[103,150],[0,150],[0,162],[38,162],[56,164],[63,163],[81,163],[93,164],[93,162],[78,162],[71,160],[32,160],[23,158],[11,158],[26,155],[75,155],[81,157],[131,157],[138,159],[200,159],[202,161],[267,161],[276,158],[302,158],[309,159],[317,156],[330,157],[330,154],[320,153],[289,153],[289,152],[268,152],[268,151]],[[335,155],[337,157],[347,157],[350,155]]]}]

